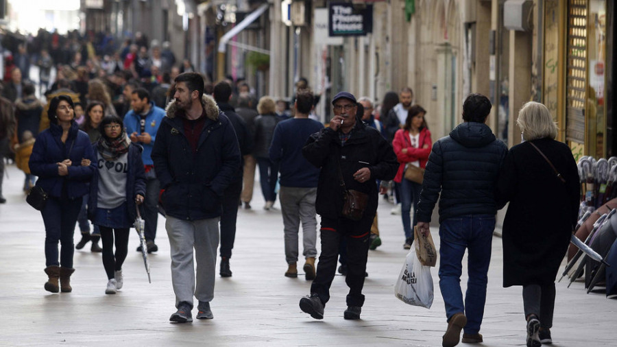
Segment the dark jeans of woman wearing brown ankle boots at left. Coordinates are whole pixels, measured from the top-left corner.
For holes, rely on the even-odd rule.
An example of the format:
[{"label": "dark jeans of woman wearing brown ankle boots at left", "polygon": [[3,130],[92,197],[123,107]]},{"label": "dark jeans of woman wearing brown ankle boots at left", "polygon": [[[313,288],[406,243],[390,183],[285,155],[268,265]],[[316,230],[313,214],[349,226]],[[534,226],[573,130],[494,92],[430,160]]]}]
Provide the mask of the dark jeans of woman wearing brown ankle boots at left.
[{"label": "dark jeans of woman wearing brown ankle boots at left", "polygon": [[[73,233],[77,215],[82,208],[82,197],[77,199],[47,199],[40,214],[45,224],[45,265],[73,267]],[[58,241],[60,241],[60,263],[58,263]]]}]

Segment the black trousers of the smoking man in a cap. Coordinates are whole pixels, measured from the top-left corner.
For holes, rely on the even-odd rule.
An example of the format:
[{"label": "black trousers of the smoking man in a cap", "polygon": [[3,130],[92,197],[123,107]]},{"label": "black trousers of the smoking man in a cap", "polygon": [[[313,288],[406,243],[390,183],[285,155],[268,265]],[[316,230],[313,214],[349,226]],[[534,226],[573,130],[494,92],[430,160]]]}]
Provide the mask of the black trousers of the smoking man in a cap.
[{"label": "black trousers of the smoking man in a cap", "polygon": [[348,306],[364,304],[362,288],[370,246],[369,238],[374,215],[365,215],[363,219],[354,222],[350,219],[329,219],[322,217],[319,235],[322,239],[322,254],[317,263],[317,275],[311,285],[311,293],[319,295],[324,305],[330,300],[330,286],[337,270],[339,244],[343,238],[347,242],[347,276],[345,282],[349,287],[347,295]]}]

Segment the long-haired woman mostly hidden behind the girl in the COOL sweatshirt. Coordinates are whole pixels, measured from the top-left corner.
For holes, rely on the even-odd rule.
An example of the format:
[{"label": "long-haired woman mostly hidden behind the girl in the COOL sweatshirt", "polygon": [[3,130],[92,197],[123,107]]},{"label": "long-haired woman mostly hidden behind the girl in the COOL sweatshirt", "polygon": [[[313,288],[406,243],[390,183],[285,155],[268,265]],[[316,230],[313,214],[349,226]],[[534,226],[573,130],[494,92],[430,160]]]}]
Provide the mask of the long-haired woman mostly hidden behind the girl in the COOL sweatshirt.
[{"label": "long-haired woman mostly hidden behind the girl in the COOL sweatshirt", "polygon": [[[99,131],[99,125],[103,120],[105,114],[105,104],[100,101],[92,101],[86,106],[86,114],[84,117],[86,120],[82,124],[82,130],[88,134],[90,143],[96,143],[101,137]],[[90,223],[88,222],[88,213],[86,212],[86,205],[88,203],[88,194],[84,195],[84,201],[82,202],[82,209],[79,217],[77,217],[77,223],[80,226],[80,232],[82,239],[75,245],[75,249],[81,250],[86,246],[88,241],[92,241],[90,246],[90,252],[101,252],[103,249],[99,246],[99,239],[101,239],[101,232],[98,226],[93,226],[92,235],[90,235]]]}]

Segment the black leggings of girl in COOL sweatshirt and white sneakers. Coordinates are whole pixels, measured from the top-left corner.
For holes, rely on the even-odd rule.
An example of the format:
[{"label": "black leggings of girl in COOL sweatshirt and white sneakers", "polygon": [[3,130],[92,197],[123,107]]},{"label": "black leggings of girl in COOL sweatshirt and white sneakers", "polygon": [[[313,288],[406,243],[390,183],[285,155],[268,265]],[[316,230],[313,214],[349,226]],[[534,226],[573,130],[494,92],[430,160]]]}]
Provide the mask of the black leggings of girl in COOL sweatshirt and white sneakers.
[{"label": "black leggings of girl in COOL sweatshirt and white sneakers", "polygon": [[[128,254],[128,236],[130,228],[107,228],[99,226],[103,242],[103,266],[107,279],[114,278],[114,272],[122,270],[122,264]],[[116,252],[114,254],[114,234],[116,235]]]}]

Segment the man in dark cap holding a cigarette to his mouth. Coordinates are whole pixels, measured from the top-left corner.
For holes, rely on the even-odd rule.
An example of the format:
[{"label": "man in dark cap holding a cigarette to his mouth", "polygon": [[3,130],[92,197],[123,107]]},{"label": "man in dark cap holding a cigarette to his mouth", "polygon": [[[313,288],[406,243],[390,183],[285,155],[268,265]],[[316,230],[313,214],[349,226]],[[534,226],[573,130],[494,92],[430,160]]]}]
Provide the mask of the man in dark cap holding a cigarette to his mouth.
[{"label": "man in dark cap holding a cigarette to his mouth", "polygon": [[[392,146],[383,136],[356,117],[354,95],[338,93],[332,99],[332,106],[335,117],[330,120],[330,127],[312,134],[302,148],[304,158],[321,168],[315,211],[322,216],[322,253],[311,285],[311,296],[300,300],[300,309],[315,319],[324,318],[324,306],[330,300],[330,285],[337,269],[339,244],[345,238],[349,294],[346,300],[348,308],[343,317],[358,320],[364,304],[362,287],[370,231],[378,204],[376,180],[394,178],[398,161]],[[359,220],[352,220],[342,213],[345,195],[341,180],[345,182],[345,189],[367,195],[366,208]]]}]

